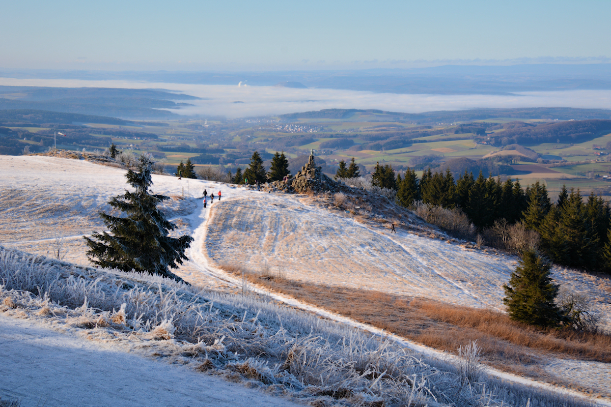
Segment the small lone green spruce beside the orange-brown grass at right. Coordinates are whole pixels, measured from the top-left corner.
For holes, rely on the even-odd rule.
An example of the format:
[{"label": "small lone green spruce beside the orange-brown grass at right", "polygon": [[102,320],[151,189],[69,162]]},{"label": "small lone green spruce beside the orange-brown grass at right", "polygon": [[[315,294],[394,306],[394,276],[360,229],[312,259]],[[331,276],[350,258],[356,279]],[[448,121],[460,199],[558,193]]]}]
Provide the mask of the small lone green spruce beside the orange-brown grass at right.
[{"label": "small lone green spruce beside the orange-brown grass at right", "polygon": [[511,319],[541,327],[558,324],[558,308],[554,304],[558,286],[549,276],[550,268],[551,264],[535,251],[524,253],[509,284],[503,286],[503,303]]}]

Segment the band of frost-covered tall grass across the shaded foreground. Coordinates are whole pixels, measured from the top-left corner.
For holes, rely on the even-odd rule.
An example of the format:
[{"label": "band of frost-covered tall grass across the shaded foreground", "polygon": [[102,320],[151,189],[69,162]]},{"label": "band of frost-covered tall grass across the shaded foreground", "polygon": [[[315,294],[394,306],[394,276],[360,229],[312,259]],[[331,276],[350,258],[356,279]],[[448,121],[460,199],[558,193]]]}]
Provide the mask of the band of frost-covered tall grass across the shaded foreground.
[{"label": "band of frost-covered tall grass across the shaded foreground", "polygon": [[51,319],[100,340],[112,334],[168,361],[257,381],[316,405],[591,405],[485,374],[469,381],[450,362],[252,295],[4,248],[0,284],[5,314]]}]

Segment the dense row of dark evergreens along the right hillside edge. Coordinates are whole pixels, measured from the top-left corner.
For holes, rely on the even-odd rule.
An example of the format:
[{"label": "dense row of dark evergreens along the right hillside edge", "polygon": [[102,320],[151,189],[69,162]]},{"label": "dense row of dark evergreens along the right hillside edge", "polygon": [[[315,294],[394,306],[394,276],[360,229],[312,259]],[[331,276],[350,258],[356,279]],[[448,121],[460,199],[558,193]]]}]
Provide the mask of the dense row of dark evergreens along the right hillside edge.
[{"label": "dense row of dark evergreens along the right hillside edge", "polygon": [[507,221],[522,222],[538,232],[540,250],[556,264],[611,273],[611,211],[609,203],[591,193],[584,202],[579,190],[563,186],[558,201],[552,203],[544,184],[535,182],[522,189],[519,180],[477,178],[465,173],[457,180],[450,172],[417,178],[414,170],[403,177],[390,165],[376,165],[372,184],[397,190],[397,201],[411,207],[416,201],[448,209],[460,209],[479,231]]}]

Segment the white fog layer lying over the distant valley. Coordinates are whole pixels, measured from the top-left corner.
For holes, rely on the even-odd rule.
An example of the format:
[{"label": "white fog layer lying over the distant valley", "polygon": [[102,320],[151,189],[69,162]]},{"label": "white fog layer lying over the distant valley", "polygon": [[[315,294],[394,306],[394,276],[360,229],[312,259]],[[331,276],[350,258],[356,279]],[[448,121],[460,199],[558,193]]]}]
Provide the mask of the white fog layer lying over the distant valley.
[{"label": "white fog layer lying over the distant valley", "polygon": [[[83,81],[78,79],[0,78],[0,85],[45,87],[106,87],[165,89],[199,96],[195,106],[173,110],[181,115],[229,118],[277,115],[321,109],[381,109],[420,113],[477,107],[581,107],[611,109],[611,90],[522,92],[516,95],[413,95],[338,89],[296,89],[269,86],[193,85],[130,81]],[[236,103],[241,102],[241,103]]]}]

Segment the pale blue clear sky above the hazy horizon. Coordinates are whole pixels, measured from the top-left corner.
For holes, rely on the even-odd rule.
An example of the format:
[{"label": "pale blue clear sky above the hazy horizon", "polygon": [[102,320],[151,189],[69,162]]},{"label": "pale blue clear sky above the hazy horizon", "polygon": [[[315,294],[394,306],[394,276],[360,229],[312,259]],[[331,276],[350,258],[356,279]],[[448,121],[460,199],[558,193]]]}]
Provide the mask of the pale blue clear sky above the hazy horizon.
[{"label": "pale blue clear sky above the hazy horizon", "polygon": [[2,5],[0,67],[304,70],[427,65],[420,60],[599,61],[611,57],[610,16],[608,0],[20,0]]}]

